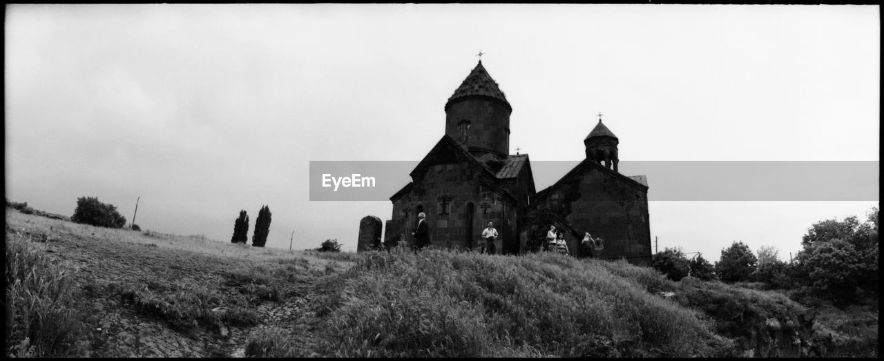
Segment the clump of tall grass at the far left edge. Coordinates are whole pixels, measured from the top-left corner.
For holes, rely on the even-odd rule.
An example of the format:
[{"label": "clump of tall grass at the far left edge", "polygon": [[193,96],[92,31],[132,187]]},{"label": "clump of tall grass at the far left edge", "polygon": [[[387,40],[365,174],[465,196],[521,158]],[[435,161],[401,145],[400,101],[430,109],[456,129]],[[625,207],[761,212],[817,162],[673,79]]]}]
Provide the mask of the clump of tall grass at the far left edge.
[{"label": "clump of tall grass at the far left edge", "polygon": [[72,356],[82,336],[70,268],[27,238],[6,236],[6,356]]}]

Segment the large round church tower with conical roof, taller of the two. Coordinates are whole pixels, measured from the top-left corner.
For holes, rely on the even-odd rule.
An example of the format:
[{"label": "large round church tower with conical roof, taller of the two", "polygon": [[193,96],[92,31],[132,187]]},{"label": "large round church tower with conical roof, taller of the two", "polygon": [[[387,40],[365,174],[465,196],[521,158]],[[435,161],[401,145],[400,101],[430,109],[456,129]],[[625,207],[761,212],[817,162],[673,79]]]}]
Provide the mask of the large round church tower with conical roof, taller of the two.
[{"label": "large round church tower with conical roof, taller of the two", "polygon": [[479,60],[445,104],[445,133],[476,156],[506,157],[512,112],[507,97]]}]

